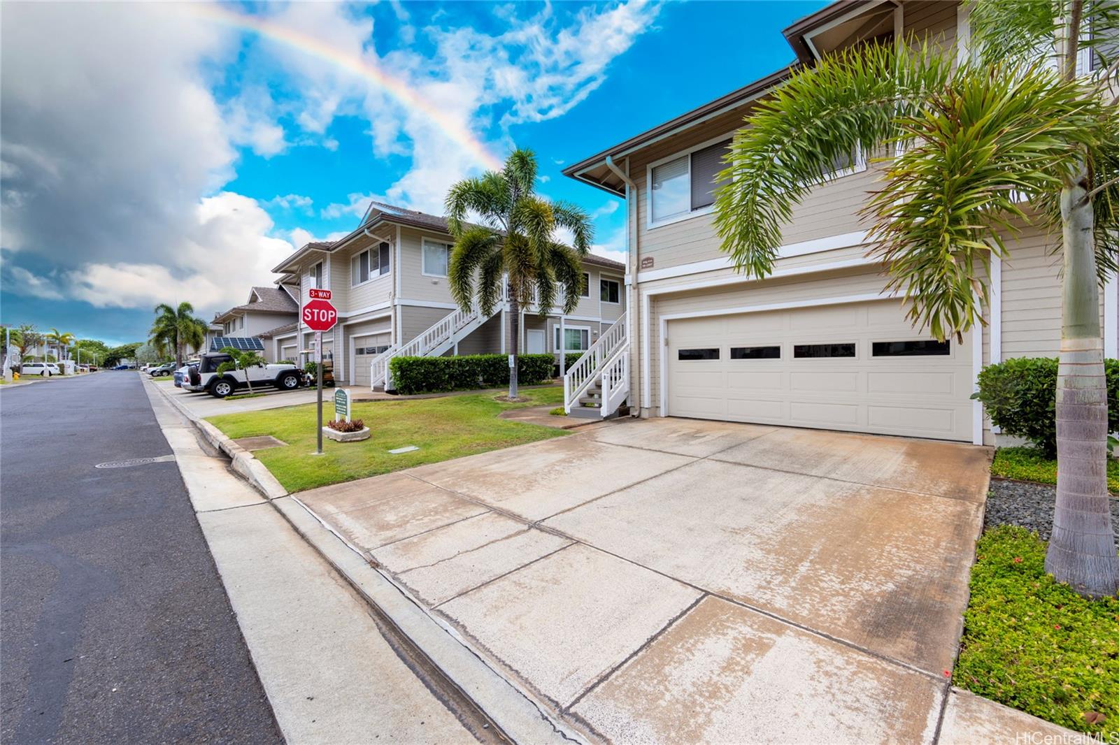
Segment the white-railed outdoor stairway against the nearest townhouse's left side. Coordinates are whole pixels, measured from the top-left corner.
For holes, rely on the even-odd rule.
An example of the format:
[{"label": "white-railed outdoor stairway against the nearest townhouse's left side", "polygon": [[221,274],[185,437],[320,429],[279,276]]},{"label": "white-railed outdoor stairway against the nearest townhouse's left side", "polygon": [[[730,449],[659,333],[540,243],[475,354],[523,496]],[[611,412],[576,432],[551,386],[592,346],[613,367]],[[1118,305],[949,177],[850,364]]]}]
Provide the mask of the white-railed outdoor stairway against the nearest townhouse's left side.
[{"label": "white-railed outdoor stairway against the nearest townhouse's left side", "polygon": [[628,312],[583,352],[563,378],[563,407],[568,416],[613,416],[629,397]]}]

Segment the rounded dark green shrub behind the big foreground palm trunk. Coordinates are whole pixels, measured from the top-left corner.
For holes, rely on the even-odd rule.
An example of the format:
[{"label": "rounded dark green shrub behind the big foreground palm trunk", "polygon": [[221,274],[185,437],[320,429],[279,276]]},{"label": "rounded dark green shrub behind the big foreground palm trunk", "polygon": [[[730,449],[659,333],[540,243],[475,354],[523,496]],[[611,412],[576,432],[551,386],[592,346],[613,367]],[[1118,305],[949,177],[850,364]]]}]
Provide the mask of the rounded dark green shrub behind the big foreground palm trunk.
[{"label": "rounded dark green shrub behind the big foreground palm trunk", "polygon": [[[1119,430],[1119,360],[1104,360],[1108,430]],[[1015,357],[979,372],[979,393],[993,424],[1025,437],[1047,458],[1056,455],[1056,374],[1054,357]]]}]

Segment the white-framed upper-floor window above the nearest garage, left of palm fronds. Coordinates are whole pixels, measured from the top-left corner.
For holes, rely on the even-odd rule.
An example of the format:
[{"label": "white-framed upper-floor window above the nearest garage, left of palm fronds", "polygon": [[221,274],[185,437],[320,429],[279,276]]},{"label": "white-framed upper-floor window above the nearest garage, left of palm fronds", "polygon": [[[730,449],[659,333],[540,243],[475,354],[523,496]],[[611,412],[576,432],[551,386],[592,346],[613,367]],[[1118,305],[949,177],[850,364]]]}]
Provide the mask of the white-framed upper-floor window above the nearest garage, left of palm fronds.
[{"label": "white-framed upper-floor window above the nearest garage, left of palm fronds", "polygon": [[715,178],[731,140],[696,148],[649,169],[650,224],[670,221],[715,204]]}]

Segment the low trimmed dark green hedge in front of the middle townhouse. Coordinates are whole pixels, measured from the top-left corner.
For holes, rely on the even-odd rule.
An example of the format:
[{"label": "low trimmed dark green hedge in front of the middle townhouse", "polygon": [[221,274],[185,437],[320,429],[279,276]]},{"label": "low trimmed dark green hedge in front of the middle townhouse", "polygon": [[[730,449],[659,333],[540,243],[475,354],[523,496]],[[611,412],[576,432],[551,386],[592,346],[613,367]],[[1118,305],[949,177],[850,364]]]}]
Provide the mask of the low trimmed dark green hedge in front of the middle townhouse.
[{"label": "low trimmed dark green hedge in front of the middle townhouse", "polygon": [[[548,380],[555,369],[552,355],[520,355],[517,381],[524,386]],[[509,358],[506,355],[464,357],[394,357],[388,367],[396,392],[404,395],[495,388],[509,384]]]}]

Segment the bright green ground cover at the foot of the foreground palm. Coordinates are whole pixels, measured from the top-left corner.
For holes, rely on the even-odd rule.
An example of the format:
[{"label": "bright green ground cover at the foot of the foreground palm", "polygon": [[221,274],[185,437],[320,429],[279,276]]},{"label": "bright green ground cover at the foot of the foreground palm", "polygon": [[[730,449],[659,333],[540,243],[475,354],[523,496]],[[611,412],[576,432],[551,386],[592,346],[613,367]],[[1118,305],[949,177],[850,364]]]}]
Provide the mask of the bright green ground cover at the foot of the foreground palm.
[{"label": "bright green ground cover at the foot of the foreground palm", "polygon": [[[1045,574],[1045,543],[1025,528],[993,528],[976,553],[953,682],[1117,742],[1119,600],[1088,601],[1057,584]],[[1092,713],[1106,719],[1089,724]]]}]

